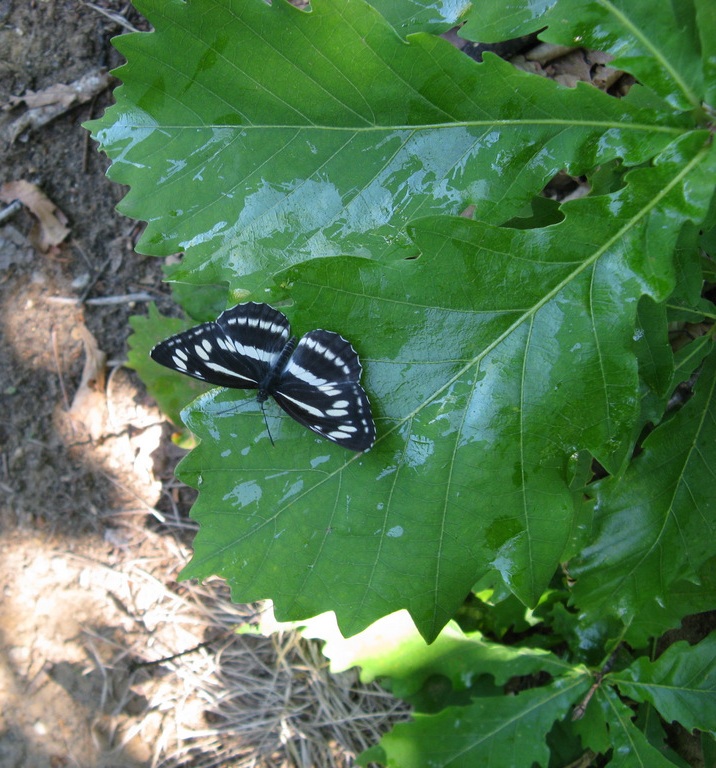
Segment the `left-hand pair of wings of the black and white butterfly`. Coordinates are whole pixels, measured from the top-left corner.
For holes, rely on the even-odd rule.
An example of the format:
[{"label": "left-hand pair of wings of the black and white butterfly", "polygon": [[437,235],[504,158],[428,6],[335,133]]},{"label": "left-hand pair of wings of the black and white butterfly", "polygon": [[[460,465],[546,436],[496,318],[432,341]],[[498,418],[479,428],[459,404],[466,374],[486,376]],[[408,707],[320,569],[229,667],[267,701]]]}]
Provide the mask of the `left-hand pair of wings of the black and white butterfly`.
[{"label": "left-hand pair of wings of the black and white butterfly", "polygon": [[209,384],[256,389],[290,335],[285,315],[250,301],[227,309],[214,322],[170,336],[150,354],[161,365]]}]

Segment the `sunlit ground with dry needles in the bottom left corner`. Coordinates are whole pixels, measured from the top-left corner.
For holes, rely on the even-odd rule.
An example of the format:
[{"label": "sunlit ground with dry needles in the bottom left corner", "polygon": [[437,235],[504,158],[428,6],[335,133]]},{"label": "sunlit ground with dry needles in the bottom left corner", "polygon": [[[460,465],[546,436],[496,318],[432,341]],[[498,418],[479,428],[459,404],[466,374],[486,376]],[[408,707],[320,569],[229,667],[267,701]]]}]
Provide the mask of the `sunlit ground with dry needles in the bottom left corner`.
[{"label": "sunlit ground with dry needles in the bottom left corner", "polygon": [[187,553],[139,538],[6,542],[0,765],[350,765],[404,718],[316,643],[236,634],[250,608],[177,587]]}]

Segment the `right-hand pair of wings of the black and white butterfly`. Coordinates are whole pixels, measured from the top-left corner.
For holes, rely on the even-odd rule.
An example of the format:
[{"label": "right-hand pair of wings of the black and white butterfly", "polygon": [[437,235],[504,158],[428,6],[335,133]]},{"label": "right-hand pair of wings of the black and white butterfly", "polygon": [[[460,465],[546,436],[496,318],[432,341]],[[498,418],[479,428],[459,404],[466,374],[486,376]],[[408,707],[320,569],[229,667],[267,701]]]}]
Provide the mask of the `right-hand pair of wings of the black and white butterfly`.
[{"label": "right-hand pair of wings of the black and white butterfly", "polygon": [[367,451],[375,442],[375,424],[361,371],[350,342],[332,331],[311,331],[296,345],[271,394],[299,424],[351,451]]}]

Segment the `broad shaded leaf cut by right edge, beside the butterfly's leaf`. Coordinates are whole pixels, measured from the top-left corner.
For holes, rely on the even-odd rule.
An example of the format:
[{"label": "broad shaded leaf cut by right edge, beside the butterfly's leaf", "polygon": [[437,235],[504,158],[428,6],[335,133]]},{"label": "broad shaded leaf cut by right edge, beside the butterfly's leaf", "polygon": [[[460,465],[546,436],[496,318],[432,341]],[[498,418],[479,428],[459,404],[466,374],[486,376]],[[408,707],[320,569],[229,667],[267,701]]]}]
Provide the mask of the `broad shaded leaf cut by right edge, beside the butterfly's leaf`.
[{"label": "broad shaded leaf cut by right edge, beside the butterfly's leaf", "polygon": [[644,442],[619,478],[595,488],[595,538],[570,568],[574,600],[589,616],[625,624],[668,603],[677,580],[697,579],[714,555],[716,355],[691,400]]}]

